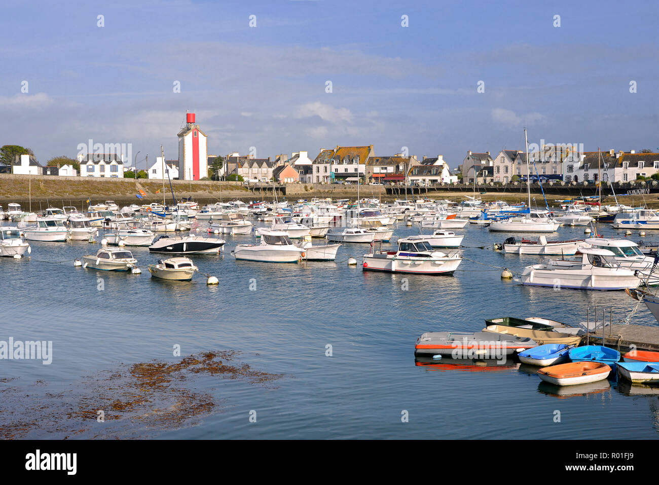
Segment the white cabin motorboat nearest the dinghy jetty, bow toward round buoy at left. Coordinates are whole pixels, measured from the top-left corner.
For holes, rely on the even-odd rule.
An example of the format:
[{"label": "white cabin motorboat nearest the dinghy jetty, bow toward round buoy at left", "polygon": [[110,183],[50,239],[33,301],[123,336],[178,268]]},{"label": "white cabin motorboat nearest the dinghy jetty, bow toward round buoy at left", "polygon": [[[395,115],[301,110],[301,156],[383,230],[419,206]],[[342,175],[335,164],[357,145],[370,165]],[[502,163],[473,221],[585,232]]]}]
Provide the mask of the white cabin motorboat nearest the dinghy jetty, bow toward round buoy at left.
[{"label": "white cabin motorboat nearest the dinghy jetty, bow toward round buoy at left", "polygon": [[610,250],[581,248],[579,251],[580,258],[527,266],[513,281],[523,285],[585,290],[634,289],[641,284],[635,271],[621,268]]}]

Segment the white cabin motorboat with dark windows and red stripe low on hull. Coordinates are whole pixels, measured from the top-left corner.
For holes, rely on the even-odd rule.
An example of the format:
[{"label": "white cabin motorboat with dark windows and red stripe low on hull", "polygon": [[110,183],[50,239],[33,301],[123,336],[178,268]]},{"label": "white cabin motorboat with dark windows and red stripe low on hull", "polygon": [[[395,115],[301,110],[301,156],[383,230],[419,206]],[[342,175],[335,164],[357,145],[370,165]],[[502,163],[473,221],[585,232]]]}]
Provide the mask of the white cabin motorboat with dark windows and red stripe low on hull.
[{"label": "white cabin motorboat with dark windows and red stripe low on hull", "polygon": [[398,250],[364,254],[362,270],[426,275],[453,274],[462,258],[459,254],[444,254],[432,248],[424,236],[398,240]]}]

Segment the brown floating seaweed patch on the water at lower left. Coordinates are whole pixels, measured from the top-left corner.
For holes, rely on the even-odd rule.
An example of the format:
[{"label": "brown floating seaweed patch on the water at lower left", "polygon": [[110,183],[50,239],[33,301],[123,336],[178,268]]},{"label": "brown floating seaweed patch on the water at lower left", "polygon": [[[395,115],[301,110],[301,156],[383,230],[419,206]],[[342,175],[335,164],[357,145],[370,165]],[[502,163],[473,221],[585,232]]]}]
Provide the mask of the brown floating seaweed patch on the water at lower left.
[{"label": "brown floating seaweed patch on the water at lower left", "polygon": [[[238,356],[237,351],[210,351],[176,362],[122,364],[64,390],[43,381],[25,388],[0,380],[0,438],[144,438],[194,426],[222,411],[225,400],[192,391],[196,380],[219,377],[270,386],[282,377],[236,362]],[[2,385],[9,382],[13,385]]]}]

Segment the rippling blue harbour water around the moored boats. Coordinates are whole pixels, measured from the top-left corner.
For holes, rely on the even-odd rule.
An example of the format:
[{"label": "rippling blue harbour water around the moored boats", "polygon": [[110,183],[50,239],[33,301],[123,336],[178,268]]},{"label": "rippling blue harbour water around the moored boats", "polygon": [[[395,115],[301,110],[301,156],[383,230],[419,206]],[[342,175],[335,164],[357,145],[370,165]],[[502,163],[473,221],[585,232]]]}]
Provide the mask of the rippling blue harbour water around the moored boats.
[{"label": "rippling blue harbour water around the moored boats", "polygon": [[[337,262],[236,261],[230,250],[252,237],[226,235],[220,256],[192,257],[202,273],[219,279],[215,287],[203,275],[187,283],[153,279],[146,265],[163,256],[148,248],[129,248],[142,268],[131,275],[74,268],[74,258],[94,254],[99,244],[30,242],[30,258],[0,258],[0,340],[52,341],[53,361],[0,360],[0,430],[32,422],[15,436],[656,438],[659,389],[610,380],[572,395],[540,384],[533,368],[519,364],[494,370],[478,363],[416,364],[414,344],[424,331],[480,331],[485,318],[498,316],[575,324],[593,304],[615,306],[619,320],[636,304],[622,291],[502,280],[500,269],[484,265],[514,272],[543,257],[495,252],[492,244],[507,235],[474,225],[455,232],[466,235],[465,246],[485,248],[464,248],[469,260],[444,277],[362,272],[368,244],[343,244]],[[623,237],[610,227],[600,232]],[[400,222],[395,227],[398,236],[416,233]],[[584,237],[583,228],[561,227],[551,239],[573,237]],[[357,267],[347,266],[349,256]],[[656,320],[641,305],[632,323]],[[48,414],[54,402],[56,413],[80,402],[96,413],[101,376],[138,362],[177,362],[177,345],[182,357],[239,351],[237,361],[281,376],[268,385],[196,376],[188,387],[217,405],[176,426],[138,419],[88,419],[82,426],[80,417]],[[74,399],[72,389],[85,399]],[[39,413],[57,425],[38,422]]]}]

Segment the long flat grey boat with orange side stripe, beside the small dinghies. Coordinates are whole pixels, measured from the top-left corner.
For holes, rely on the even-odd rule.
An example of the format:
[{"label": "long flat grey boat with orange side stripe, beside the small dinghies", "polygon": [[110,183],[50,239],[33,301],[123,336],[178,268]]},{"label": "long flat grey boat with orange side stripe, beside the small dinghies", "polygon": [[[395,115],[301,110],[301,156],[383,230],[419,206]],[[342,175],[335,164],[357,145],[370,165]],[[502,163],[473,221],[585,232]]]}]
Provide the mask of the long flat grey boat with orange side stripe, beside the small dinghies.
[{"label": "long flat grey boat with orange side stripe, beside the small dinghies", "polygon": [[453,358],[500,358],[538,344],[524,337],[490,332],[433,331],[416,340],[416,355],[450,355]]}]

